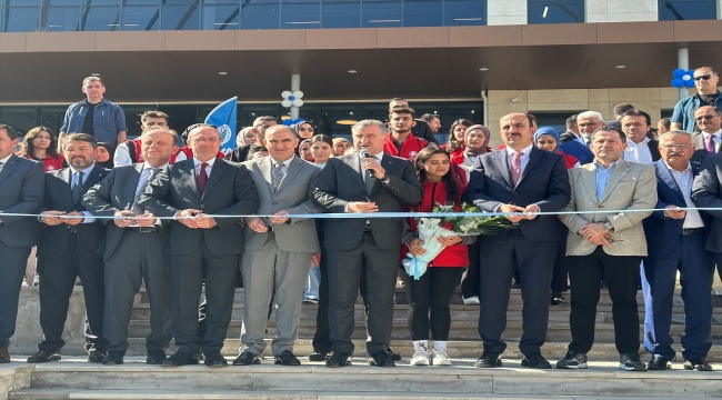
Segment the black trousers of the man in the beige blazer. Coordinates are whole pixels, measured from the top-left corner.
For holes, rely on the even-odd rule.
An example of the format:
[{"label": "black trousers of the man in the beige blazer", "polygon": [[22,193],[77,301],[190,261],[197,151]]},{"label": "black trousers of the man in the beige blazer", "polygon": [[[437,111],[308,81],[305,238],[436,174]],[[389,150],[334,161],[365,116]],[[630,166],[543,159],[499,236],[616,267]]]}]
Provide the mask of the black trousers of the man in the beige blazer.
[{"label": "black trousers of the man in the beige blazer", "polygon": [[612,299],[614,342],[619,353],[636,353],[640,348],[640,317],[636,287],[640,281],[641,256],[610,256],[601,246],[589,256],[569,256],[572,342],[569,350],[586,353],[594,343],[594,321],[599,303],[599,282],[606,276]]}]

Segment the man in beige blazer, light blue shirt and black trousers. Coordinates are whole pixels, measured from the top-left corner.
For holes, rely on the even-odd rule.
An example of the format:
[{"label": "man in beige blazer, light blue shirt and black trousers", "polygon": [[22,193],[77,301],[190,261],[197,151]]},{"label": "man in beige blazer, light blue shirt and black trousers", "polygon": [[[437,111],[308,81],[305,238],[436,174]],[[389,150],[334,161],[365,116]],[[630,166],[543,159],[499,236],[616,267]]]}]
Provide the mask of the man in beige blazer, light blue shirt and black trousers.
[{"label": "man in beige blazer, light blue shirt and black trousers", "polygon": [[[640,223],[656,204],[654,169],[628,162],[624,133],[612,127],[592,134],[594,162],[569,170],[572,196],[562,211],[596,211],[561,214],[569,228],[566,260],[572,288],[569,318],[572,342],[556,368],[586,368],[586,353],[594,343],[594,322],[602,271],[613,304],[614,340],[619,368],[644,371],[640,360],[640,326],[636,306],[639,266],[646,256]],[[622,210],[609,213],[603,210]]]}]

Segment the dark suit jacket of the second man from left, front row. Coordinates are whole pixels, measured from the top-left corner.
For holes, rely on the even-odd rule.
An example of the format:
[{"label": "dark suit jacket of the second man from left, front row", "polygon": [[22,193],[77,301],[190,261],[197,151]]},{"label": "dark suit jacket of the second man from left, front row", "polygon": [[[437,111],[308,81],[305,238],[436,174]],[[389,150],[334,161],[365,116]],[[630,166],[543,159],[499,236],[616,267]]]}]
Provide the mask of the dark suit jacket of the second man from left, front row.
[{"label": "dark suit jacket of the second man from left, front row", "polygon": [[[82,193],[88,192],[93,184],[100,182],[108,174],[108,170],[96,164],[82,186]],[[70,168],[63,168],[46,173],[46,201],[40,212],[58,210],[64,212],[88,211],[78,199],[72,201],[70,191]],[[82,198],[82,197],[81,197]],[[80,252],[84,257],[98,257],[96,251],[106,238],[103,223],[96,220],[91,223],[79,223],[74,227],[61,223],[54,227],[46,226],[42,238],[38,244],[38,257],[58,257],[68,247],[71,232],[78,234]]]}]

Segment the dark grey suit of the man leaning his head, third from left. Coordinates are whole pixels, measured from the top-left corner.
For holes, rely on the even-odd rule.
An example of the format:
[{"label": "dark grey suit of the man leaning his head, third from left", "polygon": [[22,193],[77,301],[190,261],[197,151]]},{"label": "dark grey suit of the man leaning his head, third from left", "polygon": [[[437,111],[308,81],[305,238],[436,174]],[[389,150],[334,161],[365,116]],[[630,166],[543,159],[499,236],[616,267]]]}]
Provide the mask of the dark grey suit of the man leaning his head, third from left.
[{"label": "dark grey suit of the man leaning his head, third from left", "polygon": [[[112,217],[130,210],[143,163],[118,167],[92,187],[82,204],[94,216]],[[148,174],[148,171],[147,171]],[[98,250],[106,261],[106,316],[103,332],[110,342],[108,351],[128,350],[128,324],[133,299],[146,281],[150,301],[151,332],[146,338],[148,351],[163,351],[172,332],[172,277],[170,256],[163,251],[168,229],[158,223],[153,229],[120,228],[113,220],[102,219],[108,229],[104,246]]]}]

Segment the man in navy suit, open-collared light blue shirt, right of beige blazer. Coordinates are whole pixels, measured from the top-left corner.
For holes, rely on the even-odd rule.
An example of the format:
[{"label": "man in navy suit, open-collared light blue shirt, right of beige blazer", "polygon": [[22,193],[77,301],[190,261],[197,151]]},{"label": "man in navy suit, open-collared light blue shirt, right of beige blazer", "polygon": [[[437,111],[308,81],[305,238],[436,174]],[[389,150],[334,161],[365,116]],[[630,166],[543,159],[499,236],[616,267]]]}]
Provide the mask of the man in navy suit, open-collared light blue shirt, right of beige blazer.
[{"label": "man in navy suit, open-collared light blue shirt, right of beige blazer", "polygon": [[669,332],[679,270],[684,300],[684,369],[710,371],[706,354],[712,347],[710,278],[714,264],[712,254],[704,249],[704,229],[712,221],[704,211],[679,209],[695,207],[690,196],[700,164],[690,162],[694,152],[691,133],[671,131],[659,141],[662,159],[654,163],[658,193],[654,208],[664,211],[655,211],[642,221],[649,250],[644,272],[652,294],[655,332],[648,369],[665,370],[675,356]]}]

